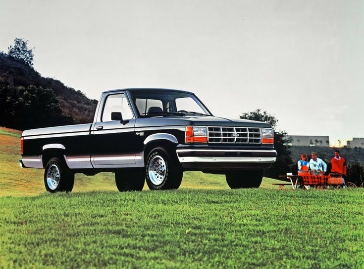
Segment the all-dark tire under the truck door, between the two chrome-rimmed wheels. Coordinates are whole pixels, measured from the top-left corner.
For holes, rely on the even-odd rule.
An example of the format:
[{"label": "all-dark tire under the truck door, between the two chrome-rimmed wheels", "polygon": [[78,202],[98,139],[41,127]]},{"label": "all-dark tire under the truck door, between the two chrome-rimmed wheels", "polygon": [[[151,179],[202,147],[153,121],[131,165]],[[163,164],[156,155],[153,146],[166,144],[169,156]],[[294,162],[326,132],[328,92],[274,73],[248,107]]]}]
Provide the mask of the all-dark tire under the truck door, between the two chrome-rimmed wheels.
[{"label": "all-dark tire under the truck door, between the two chrome-rimmed wheels", "polygon": [[124,169],[115,172],[116,188],[119,192],[143,190],[145,182],[144,169]]}]

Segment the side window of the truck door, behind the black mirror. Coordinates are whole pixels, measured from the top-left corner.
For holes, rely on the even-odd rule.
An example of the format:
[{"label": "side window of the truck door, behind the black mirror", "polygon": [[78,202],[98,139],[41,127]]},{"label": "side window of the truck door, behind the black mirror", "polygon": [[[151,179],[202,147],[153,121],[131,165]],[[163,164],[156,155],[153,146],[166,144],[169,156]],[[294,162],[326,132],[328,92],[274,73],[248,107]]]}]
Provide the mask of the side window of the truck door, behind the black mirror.
[{"label": "side window of the truck door, behind the black mirror", "polygon": [[124,93],[111,94],[106,97],[102,121],[111,121],[111,112],[121,112],[123,119],[133,118]]}]

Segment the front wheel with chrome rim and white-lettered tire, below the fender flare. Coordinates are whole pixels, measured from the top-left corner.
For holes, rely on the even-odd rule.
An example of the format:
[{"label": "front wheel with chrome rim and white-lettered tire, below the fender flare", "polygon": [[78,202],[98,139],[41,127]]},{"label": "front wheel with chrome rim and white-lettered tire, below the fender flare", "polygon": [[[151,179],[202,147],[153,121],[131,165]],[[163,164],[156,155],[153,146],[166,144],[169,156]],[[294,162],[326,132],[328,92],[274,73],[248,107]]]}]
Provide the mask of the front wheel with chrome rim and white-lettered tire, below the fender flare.
[{"label": "front wheel with chrome rim and white-lettered tire, below the fender flare", "polygon": [[[163,160],[160,162],[159,167],[164,169],[164,173],[158,175],[156,171],[156,177],[160,176],[161,178],[160,182],[156,182],[156,178],[153,175],[151,178],[149,175],[149,165],[151,161],[155,162],[159,157]],[[177,154],[169,153],[164,148],[157,147],[148,154],[145,163],[145,177],[150,190],[174,190],[179,188],[182,182],[183,169],[178,161]],[[153,163],[151,166],[153,166]],[[156,169],[159,168],[156,167]]]}]

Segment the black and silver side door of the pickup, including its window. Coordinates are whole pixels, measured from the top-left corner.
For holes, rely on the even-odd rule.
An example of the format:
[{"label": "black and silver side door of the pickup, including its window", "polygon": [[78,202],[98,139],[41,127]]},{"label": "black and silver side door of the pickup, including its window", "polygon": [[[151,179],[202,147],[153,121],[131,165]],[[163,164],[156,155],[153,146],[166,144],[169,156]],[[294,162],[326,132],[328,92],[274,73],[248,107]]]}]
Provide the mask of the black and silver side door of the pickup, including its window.
[{"label": "black and silver side door of the pickup, including its window", "polygon": [[[135,166],[135,116],[124,92],[105,94],[91,132],[91,162],[95,168]],[[119,112],[123,121],[111,120]]]}]

